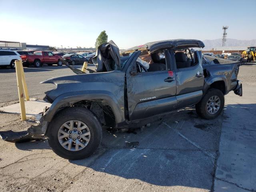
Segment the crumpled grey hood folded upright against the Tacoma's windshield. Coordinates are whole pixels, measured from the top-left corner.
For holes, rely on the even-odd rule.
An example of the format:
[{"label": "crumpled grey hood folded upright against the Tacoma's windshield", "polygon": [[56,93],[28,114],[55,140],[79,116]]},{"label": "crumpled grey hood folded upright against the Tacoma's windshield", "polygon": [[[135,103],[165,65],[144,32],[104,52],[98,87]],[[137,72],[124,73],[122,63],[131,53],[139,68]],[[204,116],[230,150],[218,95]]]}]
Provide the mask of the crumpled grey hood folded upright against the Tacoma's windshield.
[{"label": "crumpled grey hood folded upright against the Tacoma's windshield", "polygon": [[92,62],[98,65],[96,72],[120,70],[121,62],[118,46],[112,40],[101,44],[98,46]]}]

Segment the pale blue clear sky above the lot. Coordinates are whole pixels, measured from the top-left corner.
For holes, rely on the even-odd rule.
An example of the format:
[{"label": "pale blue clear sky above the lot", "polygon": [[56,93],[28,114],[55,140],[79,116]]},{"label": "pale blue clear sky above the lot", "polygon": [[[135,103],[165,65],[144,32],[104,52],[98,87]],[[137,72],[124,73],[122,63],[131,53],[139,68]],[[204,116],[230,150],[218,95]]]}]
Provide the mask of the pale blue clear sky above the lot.
[{"label": "pale blue clear sky above the lot", "polygon": [[255,39],[256,0],[0,0],[0,40],[94,47],[102,30],[120,48],[177,38]]}]

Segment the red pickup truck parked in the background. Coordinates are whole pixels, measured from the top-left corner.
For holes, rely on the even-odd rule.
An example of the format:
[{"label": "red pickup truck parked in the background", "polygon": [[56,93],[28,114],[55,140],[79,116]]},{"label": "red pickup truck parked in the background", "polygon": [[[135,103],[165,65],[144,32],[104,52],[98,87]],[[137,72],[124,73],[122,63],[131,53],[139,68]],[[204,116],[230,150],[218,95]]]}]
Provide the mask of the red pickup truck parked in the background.
[{"label": "red pickup truck parked in the background", "polygon": [[50,51],[36,51],[33,55],[20,56],[24,65],[34,64],[35,67],[40,67],[42,64],[48,64],[51,66],[56,63],[58,66],[62,66],[61,56],[54,55]]}]

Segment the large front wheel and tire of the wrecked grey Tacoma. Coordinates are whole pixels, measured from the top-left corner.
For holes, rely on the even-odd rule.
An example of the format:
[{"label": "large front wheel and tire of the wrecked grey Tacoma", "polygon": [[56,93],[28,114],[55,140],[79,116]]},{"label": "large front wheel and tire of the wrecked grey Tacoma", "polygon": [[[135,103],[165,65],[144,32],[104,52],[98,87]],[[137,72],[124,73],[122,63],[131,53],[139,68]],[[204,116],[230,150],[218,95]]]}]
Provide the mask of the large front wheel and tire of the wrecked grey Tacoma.
[{"label": "large front wheel and tire of the wrecked grey Tacoma", "polygon": [[[71,120],[73,120],[74,126],[71,133],[69,133],[71,128],[69,130],[68,128],[66,128],[66,126],[70,124],[66,123],[70,122]],[[81,130],[81,134],[79,134],[78,130],[75,130],[75,128],[78,129],[78,125],[76,124],[76,122],[78,121],[80,121],[81,124],[85,124],[87,126],[84,129],[86,131]],[[64,124],[66,126],[63,126]],[[82,128],[83,127],[84,126],[82,126]],[[67,134],[68,136],[66,136],[65,138],[61,138],[65,135],[63,133],[60,133],[59,130],[60,132],[65,132],[65,135]],[[90,137],[87,138],[87,140],[89,140],[88,142],[86,140],[83,140],[84,137],[82,136],[82,132],[84,132],[84,134],[87,134],[88,132],[90,133]],[[76,134],[76,136],[74,136],[74,134]],[[58,112],[58,114],[54,116],[53,120],[48,126],[46,136],[50,147],[58,156],[69,160],[78,160],[90,156],[98,148],[102,138],[102,126],[96,116],[92,112],[90,112],[90,110],[84,107],[70,107],[61,110],[60,112]],[[71,136],[74,136],[73,139]],[[81,136],[81,138],[79,138],[78,136]],[[75,141],[74,138],[76,138]],[[65,142],[68,141],[70,141],[70,144],[67,143],[66,145],[64,145]],[[64,146],[60,144],[61,142]],[[83,144],[85,147],[83,148],[83,146],[79,146],[78,144],[78,148],[80,147],[81,149],[77,150],[75,144],[76,142],[84,142]],[[70,149],[68,149],[69,146]]]}]

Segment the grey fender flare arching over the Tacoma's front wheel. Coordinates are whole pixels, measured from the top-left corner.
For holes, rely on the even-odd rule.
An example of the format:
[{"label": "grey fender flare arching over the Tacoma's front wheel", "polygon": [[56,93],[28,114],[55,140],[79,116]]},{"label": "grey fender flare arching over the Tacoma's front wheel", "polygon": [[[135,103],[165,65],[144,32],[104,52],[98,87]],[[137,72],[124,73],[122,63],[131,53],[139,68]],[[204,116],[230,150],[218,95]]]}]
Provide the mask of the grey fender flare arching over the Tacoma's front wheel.
[{"label": "grey fender flare arching over the Tacoma's front wheel", "polygon": [[102,90],[89,90],[89,91],[80,91],[80,92],[68,92],[65,94],[62,94],[58,96],[46,114],[44,114],[44,120],[47,122],[50,122],[54,115],[58,112],[59,108],[69,102],[79,102],[82,100],[104,100],[108,103],[108,105],[111,107],[116,123],[123,122],[125,120],[124,118],[124,111],[122,110],[123,107],[119,106],[118,100],[112,94],[108,91],[102,91]]}]

